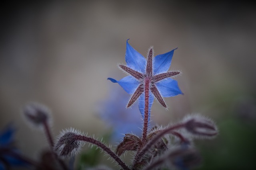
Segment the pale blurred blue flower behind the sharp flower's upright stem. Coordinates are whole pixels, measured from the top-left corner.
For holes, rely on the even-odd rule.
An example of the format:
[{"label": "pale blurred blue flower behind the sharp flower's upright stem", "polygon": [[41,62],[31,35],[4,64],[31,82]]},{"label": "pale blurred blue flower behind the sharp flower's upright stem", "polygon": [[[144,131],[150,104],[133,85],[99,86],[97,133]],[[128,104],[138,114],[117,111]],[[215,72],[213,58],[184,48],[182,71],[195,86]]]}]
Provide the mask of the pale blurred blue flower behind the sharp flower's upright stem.
[{"label": "pale blurred blue flower behind the sharp flower's upright stem", "polygon": [[137,109],[126,109],[129,95],[121,88],[110,90],[107,100],[101,101],[98,106],[100,117],[112,128],[112,142],[119,142],[124,134],[140,135],[142,119]]}]

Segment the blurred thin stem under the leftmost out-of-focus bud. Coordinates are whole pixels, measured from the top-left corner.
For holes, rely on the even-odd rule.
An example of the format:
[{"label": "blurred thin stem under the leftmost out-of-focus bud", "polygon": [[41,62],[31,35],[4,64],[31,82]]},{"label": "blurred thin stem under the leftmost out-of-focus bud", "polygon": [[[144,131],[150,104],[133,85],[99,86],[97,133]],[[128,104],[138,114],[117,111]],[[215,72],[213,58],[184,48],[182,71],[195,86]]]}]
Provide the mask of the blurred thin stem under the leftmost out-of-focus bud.
[{"label": "blurred thin stem under the leftmost out-of-focus bud", "polygon": [[48,142],[50,144],[50,149],[52,150],[52,154],[54,155],[56,160],[59,162],[60,166],[64,170],[68,170],[68,167],[66,166],[66,164],[62,160],[60,160],[60,158],[58,158],[57,154],[54,152],[54,148],[53,148],[54,147],[54,142],[53,142],[53,139],[52,139],[52,133],[50,132],[50,128],[49,128],[49,125],[48,125],[47,121],[44,121],[44,130],[45,130]]}]

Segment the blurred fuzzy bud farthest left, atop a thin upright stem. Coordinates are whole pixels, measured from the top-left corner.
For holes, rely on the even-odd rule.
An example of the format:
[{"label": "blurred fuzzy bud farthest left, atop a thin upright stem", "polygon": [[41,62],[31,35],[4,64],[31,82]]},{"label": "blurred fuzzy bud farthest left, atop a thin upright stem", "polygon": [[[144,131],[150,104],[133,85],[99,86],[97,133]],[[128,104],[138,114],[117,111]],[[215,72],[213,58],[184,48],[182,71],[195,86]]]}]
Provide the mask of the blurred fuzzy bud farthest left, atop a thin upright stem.
[{"label": "blurred fuzzy bud farthest left, atop a thin upright stem", "polygon": [[35,126],[42,126],[50,121],[50,109],[39,103],[27,104],[23,113],[26,120]]}]

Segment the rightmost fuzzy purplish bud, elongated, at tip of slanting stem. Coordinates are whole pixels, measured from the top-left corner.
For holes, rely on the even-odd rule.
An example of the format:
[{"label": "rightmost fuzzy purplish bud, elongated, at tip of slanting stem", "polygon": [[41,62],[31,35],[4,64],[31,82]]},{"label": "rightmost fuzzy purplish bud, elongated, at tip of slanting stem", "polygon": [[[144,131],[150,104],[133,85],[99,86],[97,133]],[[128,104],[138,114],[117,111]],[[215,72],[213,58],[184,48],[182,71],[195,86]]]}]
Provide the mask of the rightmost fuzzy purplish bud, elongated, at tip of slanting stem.
[{"label": "rightmost fuzzy purplish bud, elongated, at tip of slanting stem", "polygon": [[183,119],[185,129],[193,137],[212,138],[218,134],[214,121],[202,115],[189,115]]}]

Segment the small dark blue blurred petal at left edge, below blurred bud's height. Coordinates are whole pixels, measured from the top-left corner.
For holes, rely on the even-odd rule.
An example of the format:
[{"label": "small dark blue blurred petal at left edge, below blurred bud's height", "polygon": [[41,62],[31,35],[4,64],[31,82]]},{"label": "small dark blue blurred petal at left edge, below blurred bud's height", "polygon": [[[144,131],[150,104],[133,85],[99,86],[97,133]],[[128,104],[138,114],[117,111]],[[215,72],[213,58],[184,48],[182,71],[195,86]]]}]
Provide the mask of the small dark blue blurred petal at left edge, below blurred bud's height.
[{"label": "small dark blue blurred petal at left edge, below blurred bud's height", "polygon": [[8,125],[6,129],[0,134],[0,145],[8,145],[13,141],[14,138],[14,127]]}]

